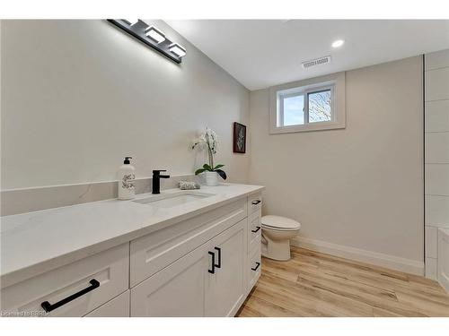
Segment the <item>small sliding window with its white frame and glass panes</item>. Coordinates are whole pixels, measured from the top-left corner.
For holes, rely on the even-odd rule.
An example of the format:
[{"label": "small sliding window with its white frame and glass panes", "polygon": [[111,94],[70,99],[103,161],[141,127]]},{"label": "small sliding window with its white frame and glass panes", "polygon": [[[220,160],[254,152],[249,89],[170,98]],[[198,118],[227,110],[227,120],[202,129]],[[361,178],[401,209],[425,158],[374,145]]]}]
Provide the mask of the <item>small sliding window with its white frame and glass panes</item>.
[{"label": "small sliding window with its white frame and glass panes", "polygon": [[271,134],[345,127],[344,73],[325,77],[270,89]]}]

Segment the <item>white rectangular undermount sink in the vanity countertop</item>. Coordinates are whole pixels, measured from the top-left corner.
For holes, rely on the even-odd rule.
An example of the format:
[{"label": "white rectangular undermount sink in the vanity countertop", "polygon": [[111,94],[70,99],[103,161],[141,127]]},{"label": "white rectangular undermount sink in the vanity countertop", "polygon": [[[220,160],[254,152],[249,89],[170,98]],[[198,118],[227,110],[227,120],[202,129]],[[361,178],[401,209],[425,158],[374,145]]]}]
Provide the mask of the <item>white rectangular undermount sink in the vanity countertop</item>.
[{"label": "white rectangular undermount sink in the vanity countertop", "polygon": [[171,194],[158,194],[150,197],[145,197],[133,202],[147,204],[155,208],[168,209],[175,206],[183,205],[189,202],[196,202],[213,196],[214,194],[198,193],[192,191],[180,191]]}]

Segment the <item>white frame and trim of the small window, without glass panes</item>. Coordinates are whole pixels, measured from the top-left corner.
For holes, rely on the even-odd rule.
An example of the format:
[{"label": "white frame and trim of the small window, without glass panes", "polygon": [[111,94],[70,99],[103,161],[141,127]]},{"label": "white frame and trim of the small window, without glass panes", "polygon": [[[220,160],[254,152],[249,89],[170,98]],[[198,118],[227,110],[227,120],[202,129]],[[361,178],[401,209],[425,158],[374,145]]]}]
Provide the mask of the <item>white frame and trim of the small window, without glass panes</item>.
[{"label": "white frame and trim of the small window, without glass panes", "polygon": [[[270,88],[270,134],[310,132],[346,127],[345,73],[334,73]],[[330,90],[330,121],[309,123],[309,94]],[[284,99],[304,95],[304,124],[283,125]]]}]

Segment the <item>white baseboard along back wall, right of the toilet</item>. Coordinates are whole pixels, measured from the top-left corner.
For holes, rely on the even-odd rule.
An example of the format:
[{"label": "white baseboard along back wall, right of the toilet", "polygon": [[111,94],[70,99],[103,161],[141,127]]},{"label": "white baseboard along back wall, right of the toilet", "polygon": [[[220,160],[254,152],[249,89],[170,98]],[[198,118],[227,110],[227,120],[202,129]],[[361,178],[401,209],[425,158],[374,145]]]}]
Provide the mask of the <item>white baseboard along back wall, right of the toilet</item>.
[{"label": "white baseboard along back wall, right of the toilet", "polygon": [[390,254],[366,251],[356,247],[342,246],[322,240],[297,236],[291,240],[292,246],[304,247],[323,254],[333,254],[342,258],[371,263],[376,266],[404,271],[411,274],[424,275],[424,262],[401,258]]}]

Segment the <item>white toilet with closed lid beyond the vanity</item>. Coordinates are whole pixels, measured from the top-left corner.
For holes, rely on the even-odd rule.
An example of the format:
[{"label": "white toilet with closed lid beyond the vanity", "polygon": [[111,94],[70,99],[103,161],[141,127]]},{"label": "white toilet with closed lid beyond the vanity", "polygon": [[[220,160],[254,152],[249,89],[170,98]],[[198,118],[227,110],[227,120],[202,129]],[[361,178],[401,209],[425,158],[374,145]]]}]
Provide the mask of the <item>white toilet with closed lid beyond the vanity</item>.
[{"label": "white toilet with closed lid beyond the vanity", "polygon": [[262,255],[274,260],[290,259],[290,239],[299,233],[301,224],[280,216],[262,217]]}]

